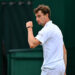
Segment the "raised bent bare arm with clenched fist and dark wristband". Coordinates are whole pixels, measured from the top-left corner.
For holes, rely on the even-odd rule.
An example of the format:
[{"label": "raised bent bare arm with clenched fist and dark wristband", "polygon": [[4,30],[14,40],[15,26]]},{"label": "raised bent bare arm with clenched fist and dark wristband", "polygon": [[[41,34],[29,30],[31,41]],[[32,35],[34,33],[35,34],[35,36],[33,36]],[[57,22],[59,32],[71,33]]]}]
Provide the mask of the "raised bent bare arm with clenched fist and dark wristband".
[{"label": "raised bent bare arm with clenched fist and dark wristband", "polygon": [[28,30],[28,43],[29,43],[29,46],[30,46],[30,48],[35,48],[36,46],[38,46],[40,44],[40,41],[38,41],[33,35],[32,21],[27,22],[26,27],[27,27],[27,30]]}]

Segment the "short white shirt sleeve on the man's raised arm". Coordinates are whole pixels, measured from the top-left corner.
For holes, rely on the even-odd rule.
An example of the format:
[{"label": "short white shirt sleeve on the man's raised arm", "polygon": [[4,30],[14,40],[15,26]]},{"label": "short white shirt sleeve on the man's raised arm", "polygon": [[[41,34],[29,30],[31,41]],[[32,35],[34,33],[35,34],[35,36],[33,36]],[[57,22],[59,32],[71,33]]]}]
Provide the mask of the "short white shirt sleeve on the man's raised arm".
[{"label": "short white shirt sleeve on the man's raised arm", "polygon": [[51,32],[49,32],[48,30],[42,30],[38,32],[35,38],[38,39],[41,42],[41,44],[44,44],[48,40],[48,38],[51,37],[50,33]]}]

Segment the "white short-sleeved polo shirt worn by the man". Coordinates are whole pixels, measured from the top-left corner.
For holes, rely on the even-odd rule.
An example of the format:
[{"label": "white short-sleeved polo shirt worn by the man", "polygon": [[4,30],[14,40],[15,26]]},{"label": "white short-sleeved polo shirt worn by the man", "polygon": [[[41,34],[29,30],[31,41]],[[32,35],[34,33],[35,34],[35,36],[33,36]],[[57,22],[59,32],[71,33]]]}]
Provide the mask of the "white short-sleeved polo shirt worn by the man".
[{"label": "white short-sleeved polo shirt worn by the man", "polygon": [[38,32],[37,38],[43,46],[43,68],[56,68],[64,64],[63,60],[63,36],[59,27],[48,21]]}]

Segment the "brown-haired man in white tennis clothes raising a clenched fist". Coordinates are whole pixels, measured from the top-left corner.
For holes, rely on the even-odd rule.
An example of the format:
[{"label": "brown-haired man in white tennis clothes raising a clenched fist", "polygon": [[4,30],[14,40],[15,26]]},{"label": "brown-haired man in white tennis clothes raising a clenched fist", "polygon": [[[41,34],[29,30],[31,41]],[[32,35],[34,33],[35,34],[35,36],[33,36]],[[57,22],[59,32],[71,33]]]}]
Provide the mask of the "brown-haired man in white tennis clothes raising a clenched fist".
[{"label": "brown-haired man in white tennis clothes raising a clenched fist", "polygon": [[63,43],[63,36],[58,26],[50,19],[50,8],[46,5],[39,5],[34,9],[36,21],[43,28],[37,36],[33,35],[33,23],[26,23],[28,30],[28,43],[30,48],[38,45],[43,46],[43,65],[41,75],[64,75],[67,64],[66,48]]}]

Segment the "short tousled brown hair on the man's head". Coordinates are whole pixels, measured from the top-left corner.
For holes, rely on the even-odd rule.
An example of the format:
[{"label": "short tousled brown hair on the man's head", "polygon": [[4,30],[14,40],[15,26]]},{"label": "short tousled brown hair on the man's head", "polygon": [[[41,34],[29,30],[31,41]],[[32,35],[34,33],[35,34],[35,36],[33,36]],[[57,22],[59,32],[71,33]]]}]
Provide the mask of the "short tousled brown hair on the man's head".
[{"label": "short tousled brown hair on the man's head", "polygon": [[45,15],[48,13],[48,17],[50,18],[51,16],[51,12],[50,12],[50,8],[47,5],[39,5],[37,8],[34,9],[34,13],[38,13],[38,11],[42,11],[42,13]]}]

